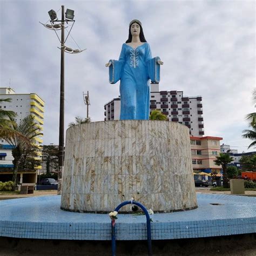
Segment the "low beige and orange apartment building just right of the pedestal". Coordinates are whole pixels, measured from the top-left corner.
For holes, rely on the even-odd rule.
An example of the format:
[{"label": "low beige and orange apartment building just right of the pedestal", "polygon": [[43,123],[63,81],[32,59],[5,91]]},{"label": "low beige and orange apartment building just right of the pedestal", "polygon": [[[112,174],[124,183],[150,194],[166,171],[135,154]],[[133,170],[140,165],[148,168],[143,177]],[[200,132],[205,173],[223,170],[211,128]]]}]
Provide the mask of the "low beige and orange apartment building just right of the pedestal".
[{"label": "low beige and orange apartment building just right of the pedestal", "polygon": [[193,171],[198,172],[218,172],[221,166],[215,165],[214,160],[220,153],[221,137],[190,137],[191,155]]}]

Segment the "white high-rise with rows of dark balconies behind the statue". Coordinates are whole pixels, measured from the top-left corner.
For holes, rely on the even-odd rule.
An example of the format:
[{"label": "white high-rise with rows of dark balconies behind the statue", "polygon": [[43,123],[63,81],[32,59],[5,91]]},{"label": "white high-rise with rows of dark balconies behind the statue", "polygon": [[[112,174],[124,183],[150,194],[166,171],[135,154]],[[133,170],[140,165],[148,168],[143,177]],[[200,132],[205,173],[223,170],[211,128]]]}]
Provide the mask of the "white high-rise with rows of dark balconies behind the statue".
[{"label": "white high-rise with rows of dark balconies behind the statue", "polygon": [[[201,100],[201,96],[184,96],[183,91],[159,91],[159,84],[151,84],[150,111],[160,110],[169,121],[186,125],[196,137],[204,135]],[[105,120],[119,120],[120,97],[105,104],[104,109]]]}]

